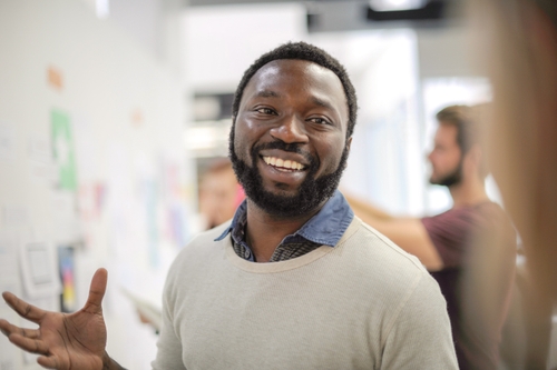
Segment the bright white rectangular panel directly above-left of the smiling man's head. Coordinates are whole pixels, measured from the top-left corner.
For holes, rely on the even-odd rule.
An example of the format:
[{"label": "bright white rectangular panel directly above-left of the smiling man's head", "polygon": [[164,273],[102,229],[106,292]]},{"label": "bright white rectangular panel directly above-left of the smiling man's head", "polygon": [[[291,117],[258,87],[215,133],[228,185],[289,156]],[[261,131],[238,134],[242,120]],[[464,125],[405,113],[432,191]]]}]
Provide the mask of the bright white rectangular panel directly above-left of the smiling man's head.
[{"label": "bright white rectangular panel directly above-left of the smiling man's head", "polygon": [[229,92],[264,52],[305,36],[299,3],[194,7],[184,12],[185,69],[196,91]]}]

